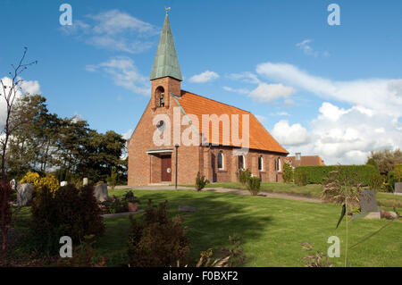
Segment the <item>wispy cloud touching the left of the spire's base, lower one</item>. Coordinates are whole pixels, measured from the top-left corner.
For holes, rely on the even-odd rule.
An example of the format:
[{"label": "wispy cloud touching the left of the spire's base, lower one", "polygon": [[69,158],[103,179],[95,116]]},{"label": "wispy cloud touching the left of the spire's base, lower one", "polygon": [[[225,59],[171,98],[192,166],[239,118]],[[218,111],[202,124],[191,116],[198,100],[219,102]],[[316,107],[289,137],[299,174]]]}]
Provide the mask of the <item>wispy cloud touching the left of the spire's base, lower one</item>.
[{"label": "wispy cloud touching the left of the spire's base, lower one", "polygon": [[103,71],[112,77],[117,86],[129,89],[136,94],[150,96],[149,80],[138,72],[134,61],[129,57],[113,57],[105,63],[87,65],[86,70],[90,72]]}]

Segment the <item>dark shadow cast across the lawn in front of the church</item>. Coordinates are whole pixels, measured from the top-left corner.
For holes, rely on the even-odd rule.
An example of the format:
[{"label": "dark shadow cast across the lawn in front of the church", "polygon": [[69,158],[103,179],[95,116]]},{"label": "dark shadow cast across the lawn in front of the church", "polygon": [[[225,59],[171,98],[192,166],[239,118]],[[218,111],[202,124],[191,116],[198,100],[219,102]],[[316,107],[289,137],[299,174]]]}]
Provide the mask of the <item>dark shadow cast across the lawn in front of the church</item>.
[{"label": "dark shadow cast across the lawn in front of the church", "polygon": [[[253,214],[253,206],[243,203],[244,199],[240,195],[174,190],[138,192],[136,196],[141,202],[139,208],[145,209],[148,199],[152,199],[154,204],[168,200],[169,214],[180,214],[183,218],[183,225],[188,227],[188,239],[192,242],[189,253],[191,264],[196,263],[201,251],[210,247],[216,250],[230,246],[229,236],[234,233],[240,237],[241,244],[258,240],[272,221],[271,216],[262,212]],[[197,211],[179,212],[179,205],[193,206]],[[140,219],[140,216],[136,218]],[[106,256],[113,252],[117,259],[111,260],[110,264],[115,265],[118,260],[124,261],[130,221],[128,217],[121,217],[107,219],[105,223],[107,230],[105,236],[99,239],[97,247]]]}]

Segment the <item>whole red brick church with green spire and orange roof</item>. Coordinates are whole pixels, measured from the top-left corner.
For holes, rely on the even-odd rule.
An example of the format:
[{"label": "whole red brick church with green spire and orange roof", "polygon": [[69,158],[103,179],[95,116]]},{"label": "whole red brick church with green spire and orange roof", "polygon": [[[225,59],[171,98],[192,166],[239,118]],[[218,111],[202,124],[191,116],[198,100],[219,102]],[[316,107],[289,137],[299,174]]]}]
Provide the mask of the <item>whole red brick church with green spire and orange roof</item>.
[{"label": "whole red brick church with green spire and orange roof", "polygon": [[236,181],[240,169],[263,182],[282,180],[289,153],[252,113],[180,88],[167,13],[150,80],[151,99],[128,141],[129,186],[194,184],[197,172],[211,182]]}]

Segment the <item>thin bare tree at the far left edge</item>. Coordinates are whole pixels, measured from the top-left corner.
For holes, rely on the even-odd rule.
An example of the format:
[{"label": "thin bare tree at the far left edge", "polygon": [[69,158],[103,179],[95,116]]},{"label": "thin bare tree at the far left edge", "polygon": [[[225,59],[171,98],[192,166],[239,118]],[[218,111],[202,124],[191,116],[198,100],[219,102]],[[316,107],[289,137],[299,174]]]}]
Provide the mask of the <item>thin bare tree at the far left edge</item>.
[{"label": "thin bare tree at the far left edge", "polygon": [[[25,71],[30,65],[37,64],[38,61],[24,63],[25,56],[27,54],[27,47],[24,47],[21,60],[17,65],[12,64],[13,71],[9,72],[9,80],[0,80],[1,90],[0,98],[4,98],[6,104],[5,122],[4,126],[0,130],[0,147],[1,147],[1,181],[0,181],[0,231],[2,232],[2,252],[5,253],[5,244],[9,224],[11,222],[11,209],[10,209],[10,197],[11,188],[7,180],[6,172],[6,152],[9,139],[13,135],[13,130],[17,126],[11,124],[11,114],[13,113],[13,105],[19,94],[23,95],[21,84],[22,71]],[[10,81],[7,83],[7,81]]]}]

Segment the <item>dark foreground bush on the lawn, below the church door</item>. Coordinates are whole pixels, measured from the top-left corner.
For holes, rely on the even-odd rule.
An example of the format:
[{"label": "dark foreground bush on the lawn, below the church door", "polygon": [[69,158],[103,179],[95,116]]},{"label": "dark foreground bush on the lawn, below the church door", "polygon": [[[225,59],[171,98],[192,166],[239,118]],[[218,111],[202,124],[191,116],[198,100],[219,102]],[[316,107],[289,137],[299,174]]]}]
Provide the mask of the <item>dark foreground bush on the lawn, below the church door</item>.
[{"label": "dark foreground bush on the lawn, below the church door", "polygon": [[190,242],[181,218],[170,218],[167,201],[158,206],[149,200],[146,212],[138,222],[130,216],[131,227],[128,241],[130,266],[166,267],[188,264]]}]

